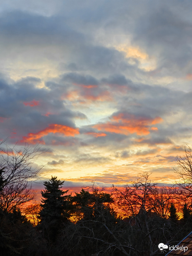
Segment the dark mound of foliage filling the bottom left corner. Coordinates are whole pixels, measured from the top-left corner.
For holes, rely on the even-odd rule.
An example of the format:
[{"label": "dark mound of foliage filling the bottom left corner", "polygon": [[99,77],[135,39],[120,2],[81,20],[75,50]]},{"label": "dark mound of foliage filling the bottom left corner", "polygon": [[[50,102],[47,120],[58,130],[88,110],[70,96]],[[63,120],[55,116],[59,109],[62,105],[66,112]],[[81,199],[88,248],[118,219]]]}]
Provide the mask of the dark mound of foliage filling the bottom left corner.
[{"label": "dark mound of foliage filling the bottom left corner", "polygon": [[46,244],[19,209],[0,210],[0,255],[46,255]]}]

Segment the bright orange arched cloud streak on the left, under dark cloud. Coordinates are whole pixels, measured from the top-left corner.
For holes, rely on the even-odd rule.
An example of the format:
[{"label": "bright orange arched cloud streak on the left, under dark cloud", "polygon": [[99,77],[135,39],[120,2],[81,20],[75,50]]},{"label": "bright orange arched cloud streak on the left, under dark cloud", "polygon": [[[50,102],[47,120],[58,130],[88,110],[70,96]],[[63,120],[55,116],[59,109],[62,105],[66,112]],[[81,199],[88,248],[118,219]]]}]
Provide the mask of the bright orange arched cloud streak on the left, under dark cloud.
[{"label": "bright orange arched cloud streak on the left, under dark cloud", "polygon": [[59,134],[64,134],[65,136],[74,137],[75,134],[79,134],[79,131],[77,128],[69,127],[67,125],[50,124],[48,127],[43,129],[42,131],[39,131],[37,133],[29,133],[26,137],[23,137],[23,139],[20,142],[27,142],[30,144],[36,144],[36,143],[45,144],[45,142],[41,138],[49,133],[54,133],[54,134],[59,133]]}]

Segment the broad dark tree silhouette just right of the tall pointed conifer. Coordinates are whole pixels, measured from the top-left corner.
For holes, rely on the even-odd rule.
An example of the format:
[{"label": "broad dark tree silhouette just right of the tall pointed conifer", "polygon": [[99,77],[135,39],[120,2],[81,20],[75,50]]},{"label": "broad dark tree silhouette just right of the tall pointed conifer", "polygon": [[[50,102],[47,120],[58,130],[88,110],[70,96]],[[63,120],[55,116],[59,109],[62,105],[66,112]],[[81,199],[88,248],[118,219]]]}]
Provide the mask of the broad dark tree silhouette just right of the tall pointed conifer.
[{"label": "broad dark tree silhouette just right of the tall pointed conifer", "polygon": [[[91,255],[97,252],[92,255],[129,256],[127,250],[132,247],[129,241],[122,238],[124,230],[119,224],[121,220],[110,207],[113,202],[112,196],[105,193],[104,188],[94,187],[94,184],[70,197],[76,223],[71,223],[67,231],[63,230],[63,234],[67,234],[67,237],[61,237],[59,243],[63,255]],[[71,254],[69,248],[73,250]]]}]

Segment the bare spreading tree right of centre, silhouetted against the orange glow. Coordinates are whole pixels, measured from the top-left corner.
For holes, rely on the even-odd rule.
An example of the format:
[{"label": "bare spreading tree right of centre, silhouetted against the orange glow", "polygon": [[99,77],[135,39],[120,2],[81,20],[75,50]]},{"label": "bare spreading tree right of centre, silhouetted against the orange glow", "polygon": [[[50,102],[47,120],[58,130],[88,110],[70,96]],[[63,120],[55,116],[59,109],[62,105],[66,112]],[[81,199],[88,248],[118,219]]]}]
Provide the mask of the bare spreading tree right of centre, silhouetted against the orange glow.
[{"label": "bare spreading tree right of centre, silhouetted against the orange glow", "polygon": [[[138,175],[138,180],[123,189],[113,186],[113,198],[119,211],[127,217],[131,232],[131,255],[154,255],[155,243],[164,236],[166,229],[165,216],[169,213],[171,194],[166,195],[166,189],[159,189],[156,183],[151,183],[149,174]],[[162,218],[163,217],[163,218]],[[135,243],[135,240],[139,243]]]}]

